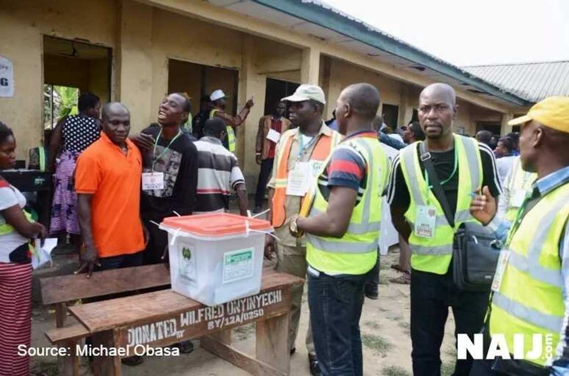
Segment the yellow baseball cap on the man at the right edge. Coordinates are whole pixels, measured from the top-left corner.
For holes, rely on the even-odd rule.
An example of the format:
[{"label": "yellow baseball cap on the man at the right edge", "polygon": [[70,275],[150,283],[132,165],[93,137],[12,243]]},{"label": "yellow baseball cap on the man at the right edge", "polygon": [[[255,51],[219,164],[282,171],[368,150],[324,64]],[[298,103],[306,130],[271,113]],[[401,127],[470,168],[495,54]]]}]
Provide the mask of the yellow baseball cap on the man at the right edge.
[{"label": "yellow baseball cap on the man at the right edge", "polygon": [[526,115],[510,120],[508,125],[520,125],[531,120],[569,133],[569,97],[547,97],[533,105]]}]

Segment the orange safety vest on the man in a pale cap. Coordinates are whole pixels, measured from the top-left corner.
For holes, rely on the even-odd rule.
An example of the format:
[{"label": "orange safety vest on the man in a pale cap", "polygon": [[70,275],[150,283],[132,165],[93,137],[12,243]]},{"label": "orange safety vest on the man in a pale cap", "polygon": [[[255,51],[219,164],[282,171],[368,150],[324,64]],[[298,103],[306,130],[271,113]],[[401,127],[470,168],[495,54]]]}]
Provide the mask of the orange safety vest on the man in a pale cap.
[{"label": "orange safety vest on the man in a pale cap", "polygon": [[[288,133],[288,132],[287,132]],[[284,135],[287,135],[285,133]],[[286,184],[287,184],[287,167],[288,167],[288,156],[290,155],[290,150],[292,148],[292,140],[294,139],[295,133],[288,133],[286,140],[281,139],[283,142],[283,148],[279,150],[279,155],[277,156],[278,170],[275,179],[275,192],[273,195],[273,227],[279,228],[284,224],[286,220]],[[332,131],[331,136],[325,134],[318,135],[318,140],[316,145],[312,149],[310,154],[310,160],[324,161],[331,154],[333,148],[340,142],[341,135],[336,131]],[[305,196],[306,197],[306,196]],[[304,202],[304,197],[300,201],[300,206]],[[300,207],[299,207],[300,210]]]}]

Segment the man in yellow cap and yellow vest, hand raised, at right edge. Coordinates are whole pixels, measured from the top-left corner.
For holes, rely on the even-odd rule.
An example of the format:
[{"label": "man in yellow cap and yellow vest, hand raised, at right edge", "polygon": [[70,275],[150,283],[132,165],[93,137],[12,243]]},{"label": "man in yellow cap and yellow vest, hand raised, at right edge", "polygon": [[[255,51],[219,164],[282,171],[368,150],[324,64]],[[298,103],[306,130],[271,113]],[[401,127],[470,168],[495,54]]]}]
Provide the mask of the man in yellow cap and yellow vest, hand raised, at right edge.
[{"label": "man in yellow cap and yellow vest, hand raised, at right edge", "polygon": [[484,330],[489,359],[476,361],[471,375],[567,375],[569,97],[546,98],[509,124],[522,125],[522,168],[537,180],[507,236],[500,220],[492,221],[496,201],[488,188],[472,200],[472,216],[504,246]]}]

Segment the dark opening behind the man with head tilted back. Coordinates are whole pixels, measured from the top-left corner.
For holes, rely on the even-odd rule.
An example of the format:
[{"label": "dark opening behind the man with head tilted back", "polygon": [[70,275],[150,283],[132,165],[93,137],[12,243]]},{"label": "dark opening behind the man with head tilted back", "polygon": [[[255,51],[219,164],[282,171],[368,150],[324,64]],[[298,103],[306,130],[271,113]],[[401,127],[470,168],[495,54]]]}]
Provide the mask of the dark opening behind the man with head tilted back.
[{"label": "dark opening behind the man with head tilted back", "polygon": [[225,111],[235,114],[239,88],[239,71],[210,67],[182,60],[168,60],[168,93],[186,93],[191,98],[192,115],[199,111],[200,98],[221,89],[229,96]]}]

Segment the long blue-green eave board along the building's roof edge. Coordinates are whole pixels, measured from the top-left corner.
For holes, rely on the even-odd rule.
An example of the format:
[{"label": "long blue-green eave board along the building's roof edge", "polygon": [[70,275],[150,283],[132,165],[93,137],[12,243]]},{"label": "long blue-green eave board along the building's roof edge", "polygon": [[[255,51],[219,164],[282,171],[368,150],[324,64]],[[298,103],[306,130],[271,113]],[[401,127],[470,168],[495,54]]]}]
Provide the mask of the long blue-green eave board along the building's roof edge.
[{"label": "long blue-green eave board along the building's roof edge", "polygon": [[301,2],[298,0],[251,0],[263,6],[270,7],[271,9],[281,11],[288,15],[306,20],[307,22],[317,24],[321,27],[328,28],[329,30],[339,32],[349,38],[358,40],[368,46],[381,49],[391,55],[401,57],[413,63],[420,64],[423,67],[432,69],[435,72],[464,82],[471,85],[478,90],[488,93],[501,100],[508,101],[518,106],[529,106],[532,102],[518,97],[512,93],[505,92],[503,89],[498,88],[480,78],[471,75],[455,67],[450,63],[442,60],[435,59],[435,57],[428,55],[428,53],[420,51],[407,44],[398,42],[387,35],[381,34],[375,30],[370,30],[364,23],[356,22],[348,19],[347,17],[337,14],[332,10],[325,9],[314,3]]}]

